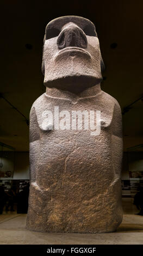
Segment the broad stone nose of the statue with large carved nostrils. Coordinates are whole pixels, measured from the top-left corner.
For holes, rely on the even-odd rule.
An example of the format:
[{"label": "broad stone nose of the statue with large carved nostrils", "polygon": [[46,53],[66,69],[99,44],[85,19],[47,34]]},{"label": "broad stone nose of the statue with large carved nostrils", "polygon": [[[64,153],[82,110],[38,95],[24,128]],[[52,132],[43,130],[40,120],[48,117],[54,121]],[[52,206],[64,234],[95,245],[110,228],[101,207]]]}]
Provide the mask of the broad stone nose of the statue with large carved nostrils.
[{"label": "broad stone nose of the statue with large carved nostrils", "polygon": [[59,49],[65,47],[80,47],[86,48],[88,41],[83,30],[77,26],[68,26],[60,32],[57,45]]}]

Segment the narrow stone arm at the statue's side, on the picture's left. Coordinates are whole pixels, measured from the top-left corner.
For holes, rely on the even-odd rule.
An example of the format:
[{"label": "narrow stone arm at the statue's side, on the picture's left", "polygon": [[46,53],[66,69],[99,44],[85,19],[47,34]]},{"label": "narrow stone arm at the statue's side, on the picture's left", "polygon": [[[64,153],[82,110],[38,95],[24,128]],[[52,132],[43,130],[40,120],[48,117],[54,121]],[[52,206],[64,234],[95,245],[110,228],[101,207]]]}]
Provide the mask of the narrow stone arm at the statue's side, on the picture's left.
[{"label": "narrow stone arm at the statue's side, on the picture's left", "polygon": [[30,127],[29,127],[29,161],[30,161],[30,181],[36,181],[36,166],[39,157],[39,125],[36,117],[35,107],[30,110]]}]

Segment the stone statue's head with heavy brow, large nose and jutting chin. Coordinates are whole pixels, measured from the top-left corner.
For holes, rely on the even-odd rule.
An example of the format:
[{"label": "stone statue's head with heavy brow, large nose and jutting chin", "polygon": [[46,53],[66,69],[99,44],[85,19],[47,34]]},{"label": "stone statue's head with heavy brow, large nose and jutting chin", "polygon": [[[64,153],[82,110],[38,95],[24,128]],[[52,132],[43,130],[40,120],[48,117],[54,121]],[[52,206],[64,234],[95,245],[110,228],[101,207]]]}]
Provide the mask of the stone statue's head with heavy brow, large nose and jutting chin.
[{"label": "stone statue's head with heavy brow, large nose and jutting chin", "polygon": [[48,23],[43,40],[42,74],[47,87],[84,88],[102,81],[104,63],[94,24],[63,16]]}]

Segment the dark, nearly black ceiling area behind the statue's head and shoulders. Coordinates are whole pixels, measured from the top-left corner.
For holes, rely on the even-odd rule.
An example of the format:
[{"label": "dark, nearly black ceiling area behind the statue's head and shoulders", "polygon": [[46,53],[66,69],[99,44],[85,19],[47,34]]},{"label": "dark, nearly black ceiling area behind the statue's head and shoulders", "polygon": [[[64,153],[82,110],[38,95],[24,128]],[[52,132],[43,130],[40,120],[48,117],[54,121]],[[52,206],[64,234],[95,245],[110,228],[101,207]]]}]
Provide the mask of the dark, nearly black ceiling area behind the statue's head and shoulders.
[{"label": "dark, nearly black ceiling area behind the statue's head and shoulders", "polygon": [[143,144],[142,7],[142,1],[133,0],[3,1],[0,142],[28,151],[26,119],[32,103],[45,92],[41,74],[45,27],[56,17],[78,15],[96,26],[105,64],[102,89],[119,101],[122,112],[127,111],[122,115],[124,150],[135,147],[138,151]]}]

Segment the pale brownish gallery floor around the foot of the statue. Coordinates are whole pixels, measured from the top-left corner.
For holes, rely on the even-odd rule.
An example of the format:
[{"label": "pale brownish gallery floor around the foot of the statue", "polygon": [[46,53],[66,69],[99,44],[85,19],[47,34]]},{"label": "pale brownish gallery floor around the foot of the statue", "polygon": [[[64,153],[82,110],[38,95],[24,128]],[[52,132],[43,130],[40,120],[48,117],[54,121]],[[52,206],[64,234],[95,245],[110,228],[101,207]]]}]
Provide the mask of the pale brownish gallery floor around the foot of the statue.
[{"label": "pale brownish gallery floor around the foot of the statue", "polygon": [[134,215],[138,210],[133,199],[123,198],[123,221],[114,233],[70,234],[41,233],[25,228],[26,214],[0,215],[0,244],[60,245],[143,245],[143,216]]}]

